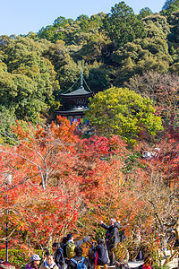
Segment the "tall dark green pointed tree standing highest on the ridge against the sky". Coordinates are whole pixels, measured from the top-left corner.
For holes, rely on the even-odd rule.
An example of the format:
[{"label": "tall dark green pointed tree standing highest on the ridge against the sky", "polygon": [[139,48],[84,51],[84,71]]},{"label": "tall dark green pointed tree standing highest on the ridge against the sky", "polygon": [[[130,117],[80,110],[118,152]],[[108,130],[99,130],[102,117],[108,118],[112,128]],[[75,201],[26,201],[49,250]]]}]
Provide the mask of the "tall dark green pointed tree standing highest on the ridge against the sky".
[{"label": "tall dark green pointed tree standing highest on the ridge against the sky", "polygon": [[145,37],[143,22],[138,20],[132,8],[124,2],[111,8],[111,13],[103,20],[103,29],[115,47],[122,47],[133,39]]}]

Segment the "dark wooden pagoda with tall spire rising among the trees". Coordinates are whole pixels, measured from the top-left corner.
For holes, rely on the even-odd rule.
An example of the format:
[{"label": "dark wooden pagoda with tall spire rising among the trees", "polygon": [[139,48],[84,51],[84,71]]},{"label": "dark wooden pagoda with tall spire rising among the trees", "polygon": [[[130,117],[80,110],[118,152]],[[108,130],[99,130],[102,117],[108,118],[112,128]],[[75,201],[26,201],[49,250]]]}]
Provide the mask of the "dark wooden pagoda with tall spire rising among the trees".
[{"label": "dark wooden pagoda with tall spire rising among the trees", "polygon": [[[90,91],[89,86],[83,79],[82,71],[80,81],[81,85],[79,89],[71,91],[74,84],[78,82],[77,80],[68,91],[65,91],[60,95],[63,100],[70,104],[71,109],[65,111],[56,111],[56,114],[60,115],[61,117],[67,117],[71,122],[75,121],[79,123],[86,123],[87,119],[85,118],[85,111],[89,109],[89,98],[93,95],[93,92]],[[86,88],[88,91],[84,89],[83,81],[86,83]]]}]

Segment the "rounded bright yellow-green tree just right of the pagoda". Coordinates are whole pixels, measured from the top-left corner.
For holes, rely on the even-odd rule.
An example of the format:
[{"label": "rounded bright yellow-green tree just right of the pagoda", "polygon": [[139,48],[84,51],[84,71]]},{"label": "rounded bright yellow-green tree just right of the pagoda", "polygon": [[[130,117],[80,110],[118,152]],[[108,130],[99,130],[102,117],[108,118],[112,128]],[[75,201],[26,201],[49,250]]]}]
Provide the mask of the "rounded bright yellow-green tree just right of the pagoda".
[{"label": "rounded bright yellow-green tree just right of the pagoda", "polygon": [[127,88],[98,92],[89,108],[86,116],[100,134],[122,135],[128,143],[134,143],[141,132],[155,135],[162,130],[161,118],[155,116],[151,100]]}]

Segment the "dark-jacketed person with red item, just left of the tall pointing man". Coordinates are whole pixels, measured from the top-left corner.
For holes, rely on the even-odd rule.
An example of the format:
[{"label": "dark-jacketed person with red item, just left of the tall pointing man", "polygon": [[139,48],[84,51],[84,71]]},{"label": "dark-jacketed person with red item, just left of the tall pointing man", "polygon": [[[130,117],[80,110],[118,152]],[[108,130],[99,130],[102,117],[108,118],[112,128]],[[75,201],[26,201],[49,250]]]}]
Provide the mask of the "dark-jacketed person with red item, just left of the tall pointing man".
[{"label": "dark-jacketed person with red item, just left of the tall pointing man", "polygon": [[107,245],[105,240],[102,238],[98,239],[97,247],[92,247],[92,250],[97,252],[97,256],[94,258],[94,264],[97,265],[97,269],[100,269],[100,265],[107,269]]}]

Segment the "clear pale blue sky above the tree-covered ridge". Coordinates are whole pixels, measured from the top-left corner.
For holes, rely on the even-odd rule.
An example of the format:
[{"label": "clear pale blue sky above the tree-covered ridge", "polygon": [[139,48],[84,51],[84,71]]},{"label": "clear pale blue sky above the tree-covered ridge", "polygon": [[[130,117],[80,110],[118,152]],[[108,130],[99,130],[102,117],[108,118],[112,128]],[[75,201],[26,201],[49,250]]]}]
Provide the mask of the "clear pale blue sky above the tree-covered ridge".
[{"label": "clear pale blue sky above the tree-covered ridge", "polygon": [[[111,7],[121,1],[114,0],[3,0],[0,8],[0,35],[37,32],[53,24],[59,16],[76,19],[81,14],[110,13]],[[135,13],[148,6],[159,12],[165,0],[126,0]]]}]

